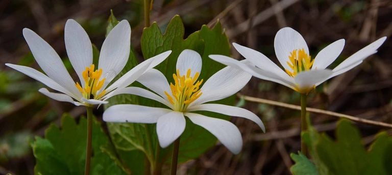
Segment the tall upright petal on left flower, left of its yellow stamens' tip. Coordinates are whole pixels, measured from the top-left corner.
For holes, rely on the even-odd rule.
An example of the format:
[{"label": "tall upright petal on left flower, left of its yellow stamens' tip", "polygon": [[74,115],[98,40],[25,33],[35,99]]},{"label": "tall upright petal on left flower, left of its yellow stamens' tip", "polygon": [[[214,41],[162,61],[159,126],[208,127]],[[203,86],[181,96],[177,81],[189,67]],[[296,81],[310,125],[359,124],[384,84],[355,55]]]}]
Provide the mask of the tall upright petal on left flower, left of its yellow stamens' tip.
[{"label": "tall upright petal on left flower, left of its yellow stamens' tip", "polygon": [[[84,82],[82,72],[92,64],[92,46],[86,31],[73,19],[68,19],[64,29],[65,48],[69,61]],[[85,83],[81,83],[84,87]]]}]

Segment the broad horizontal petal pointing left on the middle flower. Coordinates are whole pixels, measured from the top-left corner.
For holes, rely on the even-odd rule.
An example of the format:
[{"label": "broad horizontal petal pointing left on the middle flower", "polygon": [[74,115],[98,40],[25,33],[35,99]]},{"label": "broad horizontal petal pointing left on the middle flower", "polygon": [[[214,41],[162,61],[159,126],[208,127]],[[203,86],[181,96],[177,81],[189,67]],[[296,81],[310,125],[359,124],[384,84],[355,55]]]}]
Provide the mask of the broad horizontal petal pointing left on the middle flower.
[{"label": "broad horizontal petal pointing left on the middle flower", "polygon": [[171,111],[159,107],[119,104],[107,108],[103,114],[103,120],[105,122],[157,123],[160,116]]}]

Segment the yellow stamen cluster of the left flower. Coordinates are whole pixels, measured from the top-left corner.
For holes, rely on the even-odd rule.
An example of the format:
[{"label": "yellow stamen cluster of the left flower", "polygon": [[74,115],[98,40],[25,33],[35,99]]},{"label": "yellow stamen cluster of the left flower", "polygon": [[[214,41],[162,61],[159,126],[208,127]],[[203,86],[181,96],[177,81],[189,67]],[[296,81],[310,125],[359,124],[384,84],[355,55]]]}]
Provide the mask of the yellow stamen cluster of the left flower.
[{"label": "yellow stamen cluster of the left flower", "polygon": [[85,99],[100,99],[104,94],[105,90],[97,94],[102,86],[104,85],[105,79],[100,80],[102,75],[102,69],[94,71],[94,65],[86,67],[86,70],[82,73],[84,79],[84,88],[76,82],[76,88],[83,94]]}]

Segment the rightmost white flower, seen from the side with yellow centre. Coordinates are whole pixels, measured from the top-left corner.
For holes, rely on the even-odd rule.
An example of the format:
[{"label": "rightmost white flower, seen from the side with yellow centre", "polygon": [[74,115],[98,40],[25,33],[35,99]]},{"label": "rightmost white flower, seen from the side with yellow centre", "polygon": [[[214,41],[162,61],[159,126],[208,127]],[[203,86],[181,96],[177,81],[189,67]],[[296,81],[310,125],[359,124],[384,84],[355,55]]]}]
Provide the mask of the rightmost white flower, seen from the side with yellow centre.
[{"label": "rightmost white flower, seen from the side with yellow centre", "polygon": [[332,70],[326,68],[339,56],[345,40],[333,42],[311,59],[304,38],[290,27],[279,30],[274,41],[276,56],[284,70],[264,54],[236,43],[233,43],[235,49],[249,60],[250,64],[243,64],[224,55],[209,55],[209,57],[222,64],[241,68],[260,79],[274,81],[299,93],[307,94],[324,81],[358,66],[367,56],[376,53],[385,40],[386,37],[382,37],[367,45]]}]

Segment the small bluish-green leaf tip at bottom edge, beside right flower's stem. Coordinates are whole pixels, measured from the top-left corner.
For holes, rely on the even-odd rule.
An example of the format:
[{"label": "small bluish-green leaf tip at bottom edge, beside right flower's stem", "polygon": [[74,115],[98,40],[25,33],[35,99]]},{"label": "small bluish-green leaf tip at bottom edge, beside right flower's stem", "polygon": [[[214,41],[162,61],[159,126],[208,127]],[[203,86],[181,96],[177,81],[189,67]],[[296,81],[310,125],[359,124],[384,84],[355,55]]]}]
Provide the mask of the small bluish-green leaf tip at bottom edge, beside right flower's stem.
[{"label": "small bluish-green leaf tip at bottom edge, beside right flower's stem", "polygon": [[294,175],[316,175],[318,174],[314,164],[301,152],[298,154],[291,153],[290,157],[296,162],[290,167],[290,171]]}]

